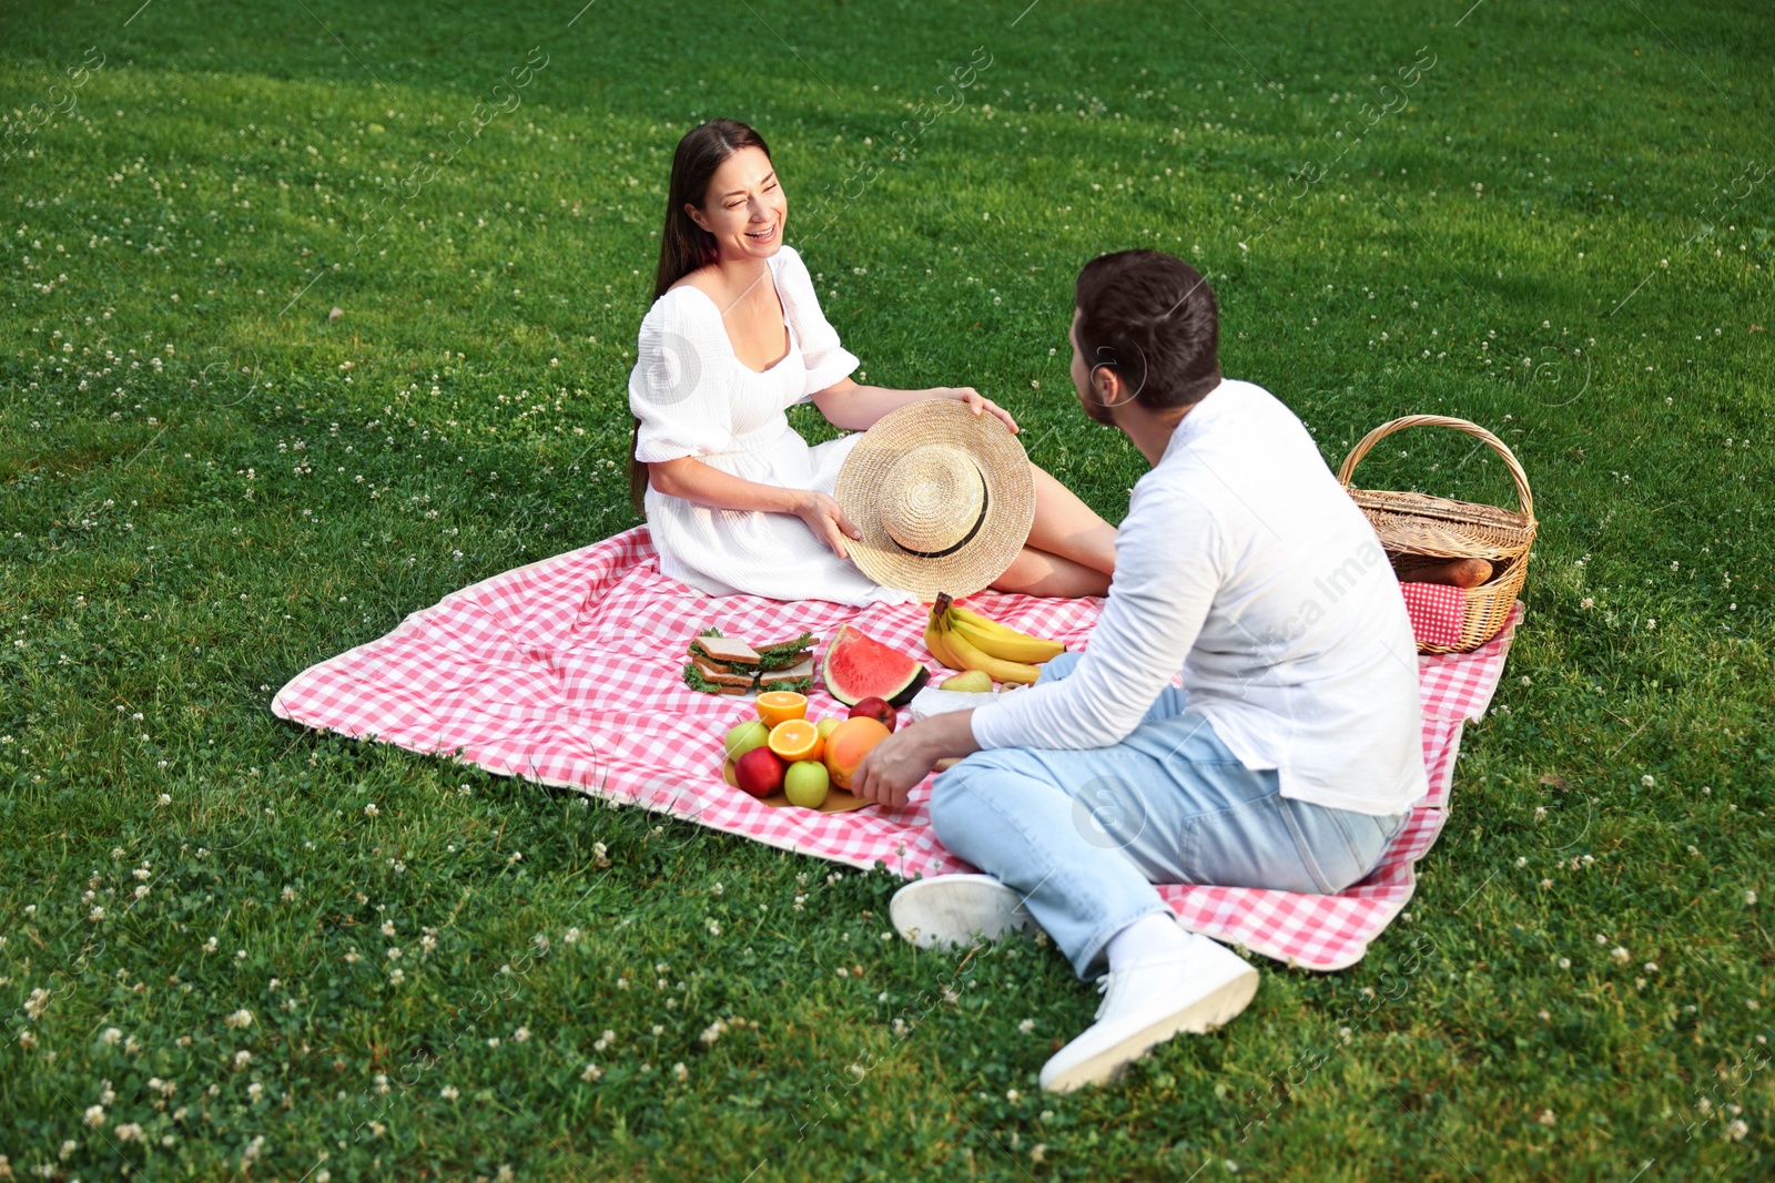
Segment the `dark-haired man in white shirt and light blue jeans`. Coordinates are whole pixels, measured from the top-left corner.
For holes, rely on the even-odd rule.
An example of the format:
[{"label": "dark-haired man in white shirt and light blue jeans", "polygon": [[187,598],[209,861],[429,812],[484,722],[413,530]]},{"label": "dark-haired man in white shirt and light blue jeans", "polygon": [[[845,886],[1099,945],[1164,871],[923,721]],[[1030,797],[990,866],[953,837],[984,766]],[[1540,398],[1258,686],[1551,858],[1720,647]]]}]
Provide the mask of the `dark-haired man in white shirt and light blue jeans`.
[{"label": "dark-haired man in white shirt and light blue jeans", "polygon": [[1427,789],[1399,584],[1301,420],[1221,378],[1207,282],[1125,250],[1085,268],[1076,305],[1079,403],[1152,465],[1102,617],[1035,686],[902,729],[854,782],[898,809],[935,761],[966,757],[930,818],[983,874],[900,889],[911,940],[1038,924],[1081,979],[1108,970],[1095,1023],[1042,1068],[1054,1091],[1257,993],[1257,970],[1182,929],[1154,883],[1338,892]]}]

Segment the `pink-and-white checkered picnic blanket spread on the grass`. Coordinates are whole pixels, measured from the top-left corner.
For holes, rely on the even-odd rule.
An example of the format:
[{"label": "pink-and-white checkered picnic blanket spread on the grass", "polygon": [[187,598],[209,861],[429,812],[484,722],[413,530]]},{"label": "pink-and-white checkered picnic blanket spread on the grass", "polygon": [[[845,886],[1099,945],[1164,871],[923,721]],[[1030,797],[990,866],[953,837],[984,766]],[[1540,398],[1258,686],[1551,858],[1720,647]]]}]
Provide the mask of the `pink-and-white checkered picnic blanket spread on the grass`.
[{"label": "pink-and-white checkered picnic blanket spread on the grass", "polygon": [[[1081,647],[1102,601],[982,592],[969,605]],[[453,592],[392,633],[309,667],[272,709],[856,867],[880,862],[907,878],[969,871],[930,830],[928,779],[900,814],[772,809],[728,787],[722,734],[751,701],[698,693],[680,678],[685,646],[710,626],[763,642],[801,630],[831,637],[850,623],[923,653],[923,619],[916,605],[705,596],[660,575],[646,527],[637,527]],[[1379,871],[1340,896],[1163,887],[1184,924],[1310,968],[1360,960],[1411,899],[1411,864],[1441,830],[1461,722],[1484,713],[1516,619],[1477,653],[1420,658],[1431,793]],[[809,699],[813,717],[843,709],[820,685]]]}]

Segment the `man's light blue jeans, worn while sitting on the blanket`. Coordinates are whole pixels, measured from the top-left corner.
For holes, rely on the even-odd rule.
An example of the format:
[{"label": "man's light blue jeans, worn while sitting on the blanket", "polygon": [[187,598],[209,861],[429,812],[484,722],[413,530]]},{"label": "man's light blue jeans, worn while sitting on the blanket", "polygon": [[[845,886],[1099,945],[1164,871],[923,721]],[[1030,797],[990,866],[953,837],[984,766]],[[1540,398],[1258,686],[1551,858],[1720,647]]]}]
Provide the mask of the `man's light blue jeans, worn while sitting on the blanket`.
[{"label": "man's light blue jeans, worn while sitting on the blanket", "polygon": [[[1065,678],[1063,653],[1042,679]],[[1125,926],[1164,912],[1154,883],[1340,892],[1381,860],[1408,814],[1282,796],[1166,686],[1122,743],[974,752],[932,786],[930,821],[960,858],[1014,887],[1079,977]]]}]

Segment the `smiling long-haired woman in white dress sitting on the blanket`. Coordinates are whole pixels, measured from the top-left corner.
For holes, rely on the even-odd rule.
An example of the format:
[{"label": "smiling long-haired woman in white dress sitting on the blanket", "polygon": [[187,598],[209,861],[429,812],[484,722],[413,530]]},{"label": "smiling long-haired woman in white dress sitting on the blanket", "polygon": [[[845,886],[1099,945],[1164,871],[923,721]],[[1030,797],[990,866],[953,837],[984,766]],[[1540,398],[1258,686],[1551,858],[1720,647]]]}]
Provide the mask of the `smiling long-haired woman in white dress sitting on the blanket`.
[{"label": "smiling long-haired woman in white dress sitting on the blanket", "polygon": [[[808,447],[785,410],[813,403],[834,427],[863,431],[907,403],[958,399],[1012,431],[1017,424],[973,387],[852,381],[857,358],[820,312],[801,255],[783,245],[786,220],[783,184],[756,131],[715,119],[678,142],[653,307],[628,378],[630,495],[648,518],[660,571],[714,596],[911,601],[847,555],[859,532],[831,493],[861,436]],[[1035,525],[992,585],[1106,594],[1115,527],[1031,468]]]}]

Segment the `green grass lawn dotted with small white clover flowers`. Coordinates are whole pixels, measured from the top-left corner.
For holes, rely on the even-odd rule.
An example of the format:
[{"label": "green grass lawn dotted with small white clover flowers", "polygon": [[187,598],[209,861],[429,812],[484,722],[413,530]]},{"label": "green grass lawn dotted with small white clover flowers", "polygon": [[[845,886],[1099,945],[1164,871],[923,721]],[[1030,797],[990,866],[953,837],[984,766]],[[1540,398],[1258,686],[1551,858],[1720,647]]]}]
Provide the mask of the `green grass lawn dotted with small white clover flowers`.
[{"label": "green grass lawn dotted with small white clover flowers", "polygon": [[[0,16],[16,1178],[1775,1172],[1763,5],[575,7]],[[1420,48],[1409,105],[1338,140]],[[1077,413],[1065,325],[1118,247],[1212,277],[1227,371],[1328,461],[1408,411],[1518,450],[1528,623],[1367,961],[1266,965],[1223,1034],[1044,1098],[1095,1006],[1053,949],[919,954],[880,940],[889,874],[270,715],[403,614],[634,525],[666,172],[717,114],[770,138],[870,380],[980,387],[1111,520],[1141,463]],[[1360,479],[1511,497],[1454,435]]]}]

